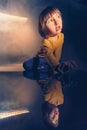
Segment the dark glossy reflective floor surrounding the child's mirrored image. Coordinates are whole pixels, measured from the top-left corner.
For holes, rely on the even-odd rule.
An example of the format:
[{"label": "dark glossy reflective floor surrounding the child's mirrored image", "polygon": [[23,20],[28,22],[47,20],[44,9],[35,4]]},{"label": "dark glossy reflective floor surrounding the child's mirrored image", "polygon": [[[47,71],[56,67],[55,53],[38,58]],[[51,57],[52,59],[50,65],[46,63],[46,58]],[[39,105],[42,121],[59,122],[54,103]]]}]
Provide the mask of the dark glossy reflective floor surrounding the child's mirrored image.
[{"label": "dark glossy reflective floor surrounding the child's mirrored image", "polygon": [[59,106],[58,130],[87,130],[87,72],[62,76],[48,73],[0,73],[0,113],[26,109],[24,113],[0,117],[0,130],[48,130],[42,119],[43,86],[52,78],[61,82],[64,103]]}]

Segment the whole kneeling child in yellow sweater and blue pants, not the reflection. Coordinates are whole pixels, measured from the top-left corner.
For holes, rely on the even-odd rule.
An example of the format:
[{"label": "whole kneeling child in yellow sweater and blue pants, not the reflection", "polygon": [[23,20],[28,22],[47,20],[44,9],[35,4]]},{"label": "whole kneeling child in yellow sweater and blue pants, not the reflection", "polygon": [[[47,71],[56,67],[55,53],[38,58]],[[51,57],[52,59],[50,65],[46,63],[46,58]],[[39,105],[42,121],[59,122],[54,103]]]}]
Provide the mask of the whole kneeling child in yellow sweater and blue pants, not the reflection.
[{"label": "whole kneeling child in yellow sweater and blue pants, not the reflection", "polygon": [[64,43],[62,27],[62,16],[57,8],[47,7],[41,12],[38,29],[43,41],[37,56],[24,62],[23,66],[26,70],[31,68],[49,70],[51,68],[53,72],[55,70],[62,72],[62,69],[58,69]]}]

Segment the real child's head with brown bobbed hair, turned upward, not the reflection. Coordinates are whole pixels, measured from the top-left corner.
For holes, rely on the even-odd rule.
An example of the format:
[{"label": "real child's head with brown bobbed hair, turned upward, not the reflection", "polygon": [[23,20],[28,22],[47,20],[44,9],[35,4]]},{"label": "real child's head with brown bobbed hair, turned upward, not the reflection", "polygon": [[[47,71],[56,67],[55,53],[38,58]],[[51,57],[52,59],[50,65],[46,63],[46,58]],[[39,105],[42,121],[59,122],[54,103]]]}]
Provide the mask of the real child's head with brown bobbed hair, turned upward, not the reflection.
[{"label": "real child's head with brown bobbed hair, turned upward, not the reflection", "polygon": [[47,7],[39,16],[39,33],[43,38],[56,36],[62,30],[62,16],[54,7]]}]

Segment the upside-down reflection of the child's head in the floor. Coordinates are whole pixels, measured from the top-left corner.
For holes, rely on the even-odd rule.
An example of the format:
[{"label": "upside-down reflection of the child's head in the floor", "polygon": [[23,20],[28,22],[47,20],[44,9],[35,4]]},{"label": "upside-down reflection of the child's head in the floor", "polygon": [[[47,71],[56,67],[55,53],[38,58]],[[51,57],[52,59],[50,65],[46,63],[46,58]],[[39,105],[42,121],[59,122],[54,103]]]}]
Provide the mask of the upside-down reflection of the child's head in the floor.
[{"label": "upside-down reflection of the child's head in the floor", "polygon": [[59,125],[59,109],[54,104],[45,102],[42,106],[44,123],[49,127],[57,127]]}]

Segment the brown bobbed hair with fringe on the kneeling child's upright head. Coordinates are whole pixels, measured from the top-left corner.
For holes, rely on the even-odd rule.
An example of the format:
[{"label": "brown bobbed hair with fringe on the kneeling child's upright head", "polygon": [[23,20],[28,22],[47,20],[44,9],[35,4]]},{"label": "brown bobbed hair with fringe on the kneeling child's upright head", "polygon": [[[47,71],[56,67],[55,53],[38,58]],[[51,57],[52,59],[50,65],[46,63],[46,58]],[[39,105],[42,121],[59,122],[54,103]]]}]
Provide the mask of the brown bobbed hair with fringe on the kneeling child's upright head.
[{"label": "brown bobbed hair with fringe on the kneeling child's upright head", "polygon": [[46,22],[49,16],[52,16],[52,14],[54,13],[58,13],[62,18],[62,15],[59,9],[55,7],[51,7],[51,6],[48,6],[47,8],[45,8],[39,15],[38,30],[39,30],[40,35],[43,38],[46,38],[49,35],[49,31],[46,28]]}]

